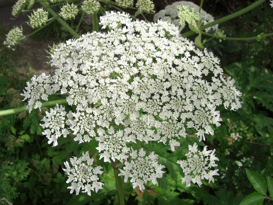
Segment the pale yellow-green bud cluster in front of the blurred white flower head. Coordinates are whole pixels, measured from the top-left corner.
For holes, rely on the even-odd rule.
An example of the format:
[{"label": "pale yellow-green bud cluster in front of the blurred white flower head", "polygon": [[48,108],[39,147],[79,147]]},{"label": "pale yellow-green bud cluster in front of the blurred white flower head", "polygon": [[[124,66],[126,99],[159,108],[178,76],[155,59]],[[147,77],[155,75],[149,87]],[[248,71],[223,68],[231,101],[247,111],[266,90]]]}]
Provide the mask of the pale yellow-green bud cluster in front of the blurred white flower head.
[{"label": "pale yellow-green bud cluster in front of the blurred white flower head", "polygon": [[189,6],[178,6],[178,18],[180,18],[180,25],[184,25],[187,22],[190,25],[196,25],[196,21],[199,21],[200,14],[194,13],[194,8],[189,10]]}]

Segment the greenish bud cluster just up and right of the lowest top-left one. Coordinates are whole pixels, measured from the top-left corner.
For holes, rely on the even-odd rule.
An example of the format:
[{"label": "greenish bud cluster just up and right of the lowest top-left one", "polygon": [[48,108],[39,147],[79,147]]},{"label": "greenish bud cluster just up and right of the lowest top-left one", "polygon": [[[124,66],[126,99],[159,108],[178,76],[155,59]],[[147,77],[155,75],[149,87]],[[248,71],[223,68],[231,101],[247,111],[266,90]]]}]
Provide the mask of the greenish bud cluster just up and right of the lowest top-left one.
[{"label": "greenish bud cluster just up and right of the lowest top-left one", "polygon": [[38,8],[36,11],[33,11],[31,16],[29,16],[28,25],[33,29],[40,28],[47,23],[48,12],[42,8]]}]

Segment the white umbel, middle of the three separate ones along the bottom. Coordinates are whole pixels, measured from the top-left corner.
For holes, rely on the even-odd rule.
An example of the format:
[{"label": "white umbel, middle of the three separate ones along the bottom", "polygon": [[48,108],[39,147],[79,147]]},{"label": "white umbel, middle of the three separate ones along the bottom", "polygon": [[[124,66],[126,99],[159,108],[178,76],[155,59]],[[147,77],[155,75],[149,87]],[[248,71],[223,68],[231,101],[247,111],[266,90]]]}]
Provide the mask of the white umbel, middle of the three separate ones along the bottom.
[{"label": "white umbel, middle of the three separate ones along the bottom", "polygon": [[158,155],[151,152],[149,156],[145,156],[146,152],[141,148],[140,150],[133,150],[130,153],[132,157],[130,162],[125,162],[123,170],[119,169],[121,173],[119,176],[124,176],[124,182],[127,182],[128,177],[132,178],[130,182],[135,189],[137,186],[142,191],[145,189],[144,183],[152,181],[153,184],[157,184],[157,178],[161,178],[165,171],[161,169],[165,168],[163,165],[159,165],[157,160]]}]

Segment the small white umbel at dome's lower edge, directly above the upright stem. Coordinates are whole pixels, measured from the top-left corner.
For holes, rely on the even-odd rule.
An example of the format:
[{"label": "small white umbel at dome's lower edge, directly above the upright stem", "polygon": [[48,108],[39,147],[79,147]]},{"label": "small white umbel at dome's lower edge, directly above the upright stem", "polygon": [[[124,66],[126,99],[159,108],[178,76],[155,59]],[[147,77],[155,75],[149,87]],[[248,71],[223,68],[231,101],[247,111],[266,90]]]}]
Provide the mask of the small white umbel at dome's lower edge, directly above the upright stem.
[{"label": "small white umbel at dome's lower edge, directly above the upright stem", "polygon": [[100,136],[96,137],[99,141],[99,146],[96,148],[100,154],[100,159],[104,158],[104,162],[111,162],[117,159],[120,162],[127,160],[130,148],[126,146],[126,138],[123,130],[115,132],[113,127],[110,127],[107,132],[99,132]]}]

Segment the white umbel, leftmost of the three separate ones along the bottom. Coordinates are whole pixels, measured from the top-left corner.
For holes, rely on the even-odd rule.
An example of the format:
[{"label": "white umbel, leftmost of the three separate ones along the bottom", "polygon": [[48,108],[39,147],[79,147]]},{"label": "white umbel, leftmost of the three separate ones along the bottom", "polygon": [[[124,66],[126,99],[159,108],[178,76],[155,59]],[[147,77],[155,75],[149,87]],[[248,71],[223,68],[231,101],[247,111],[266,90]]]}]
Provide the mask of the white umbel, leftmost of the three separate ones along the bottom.
[{"label": "white umbel, leftmost of the three separate ones along the bottom", "polygon": [[99,189],[102,189],[103,183],[99,182],[98,175],[101,175],[101,166],[92,166],[94,159],[89,157],[88,151],[83,153],[82,157],[73,157],[70,158],[70,163],[72,167],[69,166],[69,163],[66,161],[65,174],[68,175],[68,180],[66,183],[71,183],[71,186],[67,187],[70,190],[70,194],[76,191],[76,195],[79,194],[79,191],[82,189],[83,193],[87,193],[91,196],[91,191],[98,192]]}]

